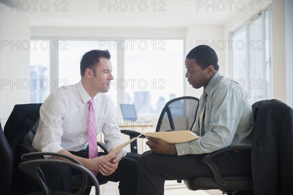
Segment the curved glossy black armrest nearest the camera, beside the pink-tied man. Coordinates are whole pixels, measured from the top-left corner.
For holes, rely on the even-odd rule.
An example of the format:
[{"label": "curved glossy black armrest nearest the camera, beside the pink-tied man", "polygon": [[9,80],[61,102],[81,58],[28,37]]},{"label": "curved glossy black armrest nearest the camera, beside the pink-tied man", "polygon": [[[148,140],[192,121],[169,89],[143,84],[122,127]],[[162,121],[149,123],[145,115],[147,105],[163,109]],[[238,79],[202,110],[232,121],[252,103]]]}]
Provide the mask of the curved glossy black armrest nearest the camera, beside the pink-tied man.
[{"label": "curved glossy black armrest nearest the camera, beside the pink-tied man", "polygon": [[[42,155],[52,155],[52,153],[43,153]],[[59,155],[56,155],[56,156],[59,156]],[[61,156],[64,157],[63,155]],[[96,188],[96,195],[99,195],[99,192],[100,192],[99,183],[96,177],[89,170],[87,170],[80,164],[74,164],[74,163],[66,162],[63,160],[56,160],[56,159],[35,159],[35,160],[28,160],[28,161],[21,162],[19,164],[19,169],[21,172],[34,178],[41,185],[41,188],[43,192],[45,193],[45,195],[49,195],[48,193],[49,189],[42,178],[42,173],[40,173],[40,166],[49,165],[49,164],[69,166],[82,172],[83,184],[81,189],[78,192],[76,192],[76,194],[83,194],[87,184],[87,177],[89,177],[93,181],[94,186]]]}]

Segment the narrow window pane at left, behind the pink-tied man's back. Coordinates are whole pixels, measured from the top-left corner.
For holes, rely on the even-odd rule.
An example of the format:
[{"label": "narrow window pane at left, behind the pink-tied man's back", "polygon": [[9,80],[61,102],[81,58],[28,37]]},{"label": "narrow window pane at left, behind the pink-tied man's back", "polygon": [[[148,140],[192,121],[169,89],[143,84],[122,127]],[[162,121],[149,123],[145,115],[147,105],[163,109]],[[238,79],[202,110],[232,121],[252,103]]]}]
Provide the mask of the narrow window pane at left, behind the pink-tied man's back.
[{"label": "narrow window pane at left, behind the pink-tied man's back", "polygon": [[42,103],[50,93],[50,41],[31,40],[30,99]]}]

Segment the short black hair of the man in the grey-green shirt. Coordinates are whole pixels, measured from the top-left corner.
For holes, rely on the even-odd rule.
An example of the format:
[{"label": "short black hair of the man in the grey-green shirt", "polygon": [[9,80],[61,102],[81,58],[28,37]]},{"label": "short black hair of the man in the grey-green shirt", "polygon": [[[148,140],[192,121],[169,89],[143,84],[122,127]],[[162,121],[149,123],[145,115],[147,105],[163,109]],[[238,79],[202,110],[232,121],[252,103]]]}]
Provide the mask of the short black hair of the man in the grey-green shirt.
[{"label": "short black hair of the man in the grey-green shirt", "polygon": [[194,47],[186,56],[187,59],[195,59],[196,63],[202,70],[207,68],[210,64],[214,66],[215,70],[219,70],[218,57],[216,52],[208,45],[199,45]]}]

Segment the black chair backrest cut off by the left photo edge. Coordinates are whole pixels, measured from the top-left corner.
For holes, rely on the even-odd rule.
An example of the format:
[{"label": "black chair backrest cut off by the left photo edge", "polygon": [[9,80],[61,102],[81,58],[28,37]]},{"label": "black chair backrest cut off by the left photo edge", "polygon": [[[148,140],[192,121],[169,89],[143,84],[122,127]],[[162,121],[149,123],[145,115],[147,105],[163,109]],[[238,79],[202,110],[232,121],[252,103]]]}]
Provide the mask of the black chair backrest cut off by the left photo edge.
[{"label": "black chair backrest cut off by the left photo edge", "polygon": [[3,177],[0,182],[0,194],[8,195],[10,192],[12,178],[13,155],[9,143],[3,133],[0,123],[0,176]]}]

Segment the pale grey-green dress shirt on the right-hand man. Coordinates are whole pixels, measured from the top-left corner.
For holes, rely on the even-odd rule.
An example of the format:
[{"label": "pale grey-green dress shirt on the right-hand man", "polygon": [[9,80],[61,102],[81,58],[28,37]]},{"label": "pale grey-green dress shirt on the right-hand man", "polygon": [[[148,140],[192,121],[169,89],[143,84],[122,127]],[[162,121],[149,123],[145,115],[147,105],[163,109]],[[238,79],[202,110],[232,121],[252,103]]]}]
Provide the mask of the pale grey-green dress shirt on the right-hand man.
[{"label": "pale grey-green dress shirt on the right-hand man", "polygon": [[[176,144],[178,156],[211,153],[228,146],[252,143],[251,103],[244,87],[218,71],[209,81],[202,137]],[[202,99],[202,97],[201,97]],[[192,130],[200,136],[199,115]]]}]

